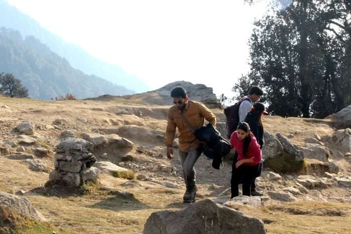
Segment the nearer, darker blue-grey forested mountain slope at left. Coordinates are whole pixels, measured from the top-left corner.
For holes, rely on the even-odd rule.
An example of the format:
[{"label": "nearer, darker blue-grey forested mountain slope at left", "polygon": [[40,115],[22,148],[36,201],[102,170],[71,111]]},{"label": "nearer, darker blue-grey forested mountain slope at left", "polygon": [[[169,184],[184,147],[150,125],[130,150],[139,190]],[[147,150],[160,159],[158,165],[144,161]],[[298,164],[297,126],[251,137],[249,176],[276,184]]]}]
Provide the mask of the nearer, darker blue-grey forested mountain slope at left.
[{"label": "nearer, darker blue-grey forested mountain slope at left", "polygon": [[29,89],[30,97],[49,100],[72,93],[78,98],[132,93],[70,66],[33,36],[23,40],[20,32],[0,28],[0,72],[13,73]]}]

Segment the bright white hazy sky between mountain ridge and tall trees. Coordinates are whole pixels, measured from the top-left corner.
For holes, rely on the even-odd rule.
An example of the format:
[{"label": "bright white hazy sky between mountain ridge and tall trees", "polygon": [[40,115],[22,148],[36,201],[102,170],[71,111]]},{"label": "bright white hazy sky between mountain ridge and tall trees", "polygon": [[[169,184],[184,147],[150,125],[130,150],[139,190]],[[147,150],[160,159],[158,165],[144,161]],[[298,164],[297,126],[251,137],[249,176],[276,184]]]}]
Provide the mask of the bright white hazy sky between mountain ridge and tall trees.
[{"label": "bright white hazy sky between mountain ridge and tall trees", "polygon": [[147,81],[177,80],[232,96],[248,72],[252,23],[265,12],[244,0],[8,0],[44,28]]}]

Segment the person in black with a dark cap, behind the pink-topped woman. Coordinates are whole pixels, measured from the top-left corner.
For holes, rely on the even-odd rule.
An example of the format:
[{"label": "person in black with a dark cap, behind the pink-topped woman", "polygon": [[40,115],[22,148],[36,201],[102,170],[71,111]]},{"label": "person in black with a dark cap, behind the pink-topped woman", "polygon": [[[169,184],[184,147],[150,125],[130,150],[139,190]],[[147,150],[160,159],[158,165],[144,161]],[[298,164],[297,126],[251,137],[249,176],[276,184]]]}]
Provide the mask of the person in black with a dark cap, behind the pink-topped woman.
[{"label": "person in black with a dark cap, behind the pink-topped woman", "polygon": [[[253,104],[251,111],[247,114],[245,118],[245,122],[249,124],[251,132],[255,136],[257,143],[260,145],[261,150],[264,145],[264,137],[263,137],[264,128],[262,123],[262,115],[264,114],[265,115],[268,114],[268,112],[265,111],[264,104],[260,102],[256,102]],[[263,195],[262,193],[256,191],[256,183],[255,183],[256,178],[261,176],[262,166],[263,166],[263,161],[260,162],[257,175],[251,184],[251,195],[254,195],[254,196]]]}]

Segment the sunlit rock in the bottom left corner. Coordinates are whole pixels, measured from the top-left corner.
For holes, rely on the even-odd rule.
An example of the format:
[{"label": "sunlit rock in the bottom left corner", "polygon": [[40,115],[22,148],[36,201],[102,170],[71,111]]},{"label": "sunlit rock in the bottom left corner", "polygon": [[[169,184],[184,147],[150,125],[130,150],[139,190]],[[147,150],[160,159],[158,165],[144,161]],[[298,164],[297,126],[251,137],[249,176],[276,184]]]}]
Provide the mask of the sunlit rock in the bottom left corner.
[{"label": "sunlit rock in the bottom left corner", "polygon": [[12,209],[24,217],[30,217],[38,221],[47,221],[46,218],[33,207],[32,203],[24,197],[0,192],[0,206]]}]

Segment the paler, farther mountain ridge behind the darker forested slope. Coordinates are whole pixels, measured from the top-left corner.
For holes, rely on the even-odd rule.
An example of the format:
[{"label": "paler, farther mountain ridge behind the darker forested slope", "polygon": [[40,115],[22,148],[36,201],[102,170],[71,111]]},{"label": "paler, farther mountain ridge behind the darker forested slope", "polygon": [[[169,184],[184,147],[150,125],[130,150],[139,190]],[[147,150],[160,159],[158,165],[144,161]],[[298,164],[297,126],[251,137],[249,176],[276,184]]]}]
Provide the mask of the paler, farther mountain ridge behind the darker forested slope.
[{"label": "paler, farther mountain ridge behind the darker forested slope", "polygon": [[24,37],[35,36],[53,52],[64,57],[72,67],[86,74],[94,74],[115,84],[124,86],[129,90],[134,90],[137,93],[149,90],[148,85],[136,76],[125,73],[123,69],[116,65],[90,56],[77,45],[65,42],[60,37],[42,28],[37,21],[21,13],[17,8],[9,5],[4,0],[0,0],[0,27],[2,26],[18,30]]}]

